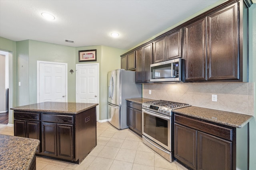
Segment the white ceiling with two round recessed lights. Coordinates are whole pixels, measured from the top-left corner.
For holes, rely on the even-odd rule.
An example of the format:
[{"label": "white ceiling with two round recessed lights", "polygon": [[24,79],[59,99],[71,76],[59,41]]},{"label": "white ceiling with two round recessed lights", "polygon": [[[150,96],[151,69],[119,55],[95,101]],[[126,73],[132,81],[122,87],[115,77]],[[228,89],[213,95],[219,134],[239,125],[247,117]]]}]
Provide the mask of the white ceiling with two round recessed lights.
[{"label": "white ceiling with two round recessed lights", "polygon": [[[0,0],[0,37],[72,47],[130,49],[217,1]],[[47,21],[42,12],[56,19]],[[112,38],[112,32],[120,36]]]}]

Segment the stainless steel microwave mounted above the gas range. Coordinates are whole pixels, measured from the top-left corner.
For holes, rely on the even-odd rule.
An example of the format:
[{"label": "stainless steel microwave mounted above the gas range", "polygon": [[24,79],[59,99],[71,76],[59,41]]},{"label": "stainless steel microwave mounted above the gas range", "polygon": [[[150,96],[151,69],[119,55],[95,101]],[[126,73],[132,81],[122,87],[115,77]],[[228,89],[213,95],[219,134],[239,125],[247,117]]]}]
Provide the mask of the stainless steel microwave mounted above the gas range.
[{"label": "stainless steel microwave mounted above the gas range", "polygon": [[150,64],[150,82],[182,82],[182,59]]}]

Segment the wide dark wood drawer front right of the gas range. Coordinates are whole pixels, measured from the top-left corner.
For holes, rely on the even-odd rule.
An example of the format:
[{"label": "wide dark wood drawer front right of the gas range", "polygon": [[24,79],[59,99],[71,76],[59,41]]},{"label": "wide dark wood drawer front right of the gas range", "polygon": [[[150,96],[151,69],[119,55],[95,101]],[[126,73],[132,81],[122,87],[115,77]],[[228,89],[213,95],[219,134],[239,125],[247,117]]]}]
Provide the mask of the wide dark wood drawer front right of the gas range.
[{"label": "wide dark wood drawer front right of the gas range", "polygon": [[233,129],[174,114],[174,122],[232,141]]}]

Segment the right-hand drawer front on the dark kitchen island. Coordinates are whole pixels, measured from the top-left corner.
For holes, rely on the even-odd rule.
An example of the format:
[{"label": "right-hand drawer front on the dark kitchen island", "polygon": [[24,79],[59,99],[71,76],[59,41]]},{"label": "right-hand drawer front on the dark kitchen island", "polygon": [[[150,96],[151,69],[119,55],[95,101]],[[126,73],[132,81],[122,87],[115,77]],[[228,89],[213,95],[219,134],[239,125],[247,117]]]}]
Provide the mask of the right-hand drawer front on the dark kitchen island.
[{"label": "right-hand drawer front on the dark kitchen island", "polygon": [[42,114],[42,121],[52,123],[73,123],[73,116],[68,115],[54,115],[54,114]]}]

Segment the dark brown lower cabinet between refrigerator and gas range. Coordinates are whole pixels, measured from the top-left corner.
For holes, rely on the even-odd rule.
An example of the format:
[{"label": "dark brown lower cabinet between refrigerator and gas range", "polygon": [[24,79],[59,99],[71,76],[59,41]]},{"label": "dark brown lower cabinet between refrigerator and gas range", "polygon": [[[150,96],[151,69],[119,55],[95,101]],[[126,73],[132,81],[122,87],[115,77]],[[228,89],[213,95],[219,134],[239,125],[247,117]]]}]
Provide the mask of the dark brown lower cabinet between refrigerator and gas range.
[{"label": "dark brown lower cabinet between refrigerator and gas range", "polygon": [[127,126],[142,136],[142,105],[127,101]]}]

